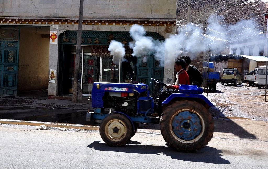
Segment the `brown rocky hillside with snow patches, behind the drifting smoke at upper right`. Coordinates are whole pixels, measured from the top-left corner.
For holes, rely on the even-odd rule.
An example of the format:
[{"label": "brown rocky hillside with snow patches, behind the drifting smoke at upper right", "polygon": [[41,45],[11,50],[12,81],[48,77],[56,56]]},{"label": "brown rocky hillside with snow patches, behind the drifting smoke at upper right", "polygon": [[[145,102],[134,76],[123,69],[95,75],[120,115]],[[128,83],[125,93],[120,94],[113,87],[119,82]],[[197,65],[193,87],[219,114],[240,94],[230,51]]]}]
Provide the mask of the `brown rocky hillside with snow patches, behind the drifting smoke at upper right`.
[{"label": "brown rocky hillside with snow patches, behind the drifting smoke at upper right", "polygon": [[[200,24],[204,29],[208,17],[214,14],[217,18],[214,17],[213,20],[219,21],[222,29],[226,30],[223,32],[226,34],[225,40],[265,32],[267,19],[262,16],[266,11],[264,2],[265,0],[191,0],[191,22]],[[181,23],[178,30],[188,22],[187,5],[187,0],[177,0],[177,22]]]}]

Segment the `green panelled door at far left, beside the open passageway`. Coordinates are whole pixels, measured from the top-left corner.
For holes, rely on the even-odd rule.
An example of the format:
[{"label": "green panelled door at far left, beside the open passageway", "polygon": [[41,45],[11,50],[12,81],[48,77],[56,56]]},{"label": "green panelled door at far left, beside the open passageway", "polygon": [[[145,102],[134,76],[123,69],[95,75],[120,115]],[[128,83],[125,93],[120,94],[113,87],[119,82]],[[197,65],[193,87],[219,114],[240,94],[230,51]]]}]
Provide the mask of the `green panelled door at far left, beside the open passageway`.
[{"label": "green panelled door at far left, beside the open passageway", "polygon": [[0,95],[17,95],[18,41],[0,41]]}]

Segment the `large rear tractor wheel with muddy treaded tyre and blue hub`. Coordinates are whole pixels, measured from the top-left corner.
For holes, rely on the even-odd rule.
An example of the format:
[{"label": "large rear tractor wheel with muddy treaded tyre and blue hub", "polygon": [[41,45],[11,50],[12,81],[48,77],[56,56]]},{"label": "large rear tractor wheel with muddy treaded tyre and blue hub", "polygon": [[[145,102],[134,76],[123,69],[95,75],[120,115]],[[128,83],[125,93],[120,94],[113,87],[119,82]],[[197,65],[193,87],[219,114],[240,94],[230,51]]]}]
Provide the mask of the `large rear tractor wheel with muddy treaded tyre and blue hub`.
[{"label": "large rear tractor wheel with muddy treaded tyre and blue hub", "polygon": [[166,107],[160,118],[160,130],[170,147],[178,151],[194,152],[211,140],[214,122],[202,104],[181,100]]}]

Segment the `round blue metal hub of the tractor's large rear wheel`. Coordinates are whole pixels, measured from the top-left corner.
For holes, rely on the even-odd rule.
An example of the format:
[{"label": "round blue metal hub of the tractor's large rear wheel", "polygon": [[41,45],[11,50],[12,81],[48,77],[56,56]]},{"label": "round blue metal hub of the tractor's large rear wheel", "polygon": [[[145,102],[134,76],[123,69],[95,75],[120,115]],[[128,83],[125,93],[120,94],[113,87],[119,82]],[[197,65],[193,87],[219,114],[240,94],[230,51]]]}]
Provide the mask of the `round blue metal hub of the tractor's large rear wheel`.
[{"label": "round blue metal hub of the tractor's large rear wheel", "polygon": [[200,118],[192,112],[184,111],[174,116],[172,128],[174,134],[183,140],[192,140],[197,137],[202,129]]}]

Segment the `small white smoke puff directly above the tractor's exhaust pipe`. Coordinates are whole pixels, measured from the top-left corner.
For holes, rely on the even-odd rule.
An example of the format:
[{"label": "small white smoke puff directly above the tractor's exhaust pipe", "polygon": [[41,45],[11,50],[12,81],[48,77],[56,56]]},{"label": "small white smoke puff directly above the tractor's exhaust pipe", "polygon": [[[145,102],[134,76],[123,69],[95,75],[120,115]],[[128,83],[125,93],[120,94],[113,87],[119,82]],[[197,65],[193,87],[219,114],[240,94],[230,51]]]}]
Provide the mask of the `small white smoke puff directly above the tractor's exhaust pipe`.
[{"label": "small white smoke puff directly above the tractor's exhaust pipe", "polygon": [[120,58],[121,58],[121,62],[124,61],[124,56],[125,56],[124,44],[118,41],[112,40],[109,45],[108,51],[110,51],[111,55],[113,55],[112,61],[114,64],[119,64]]}]

